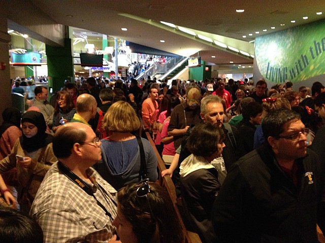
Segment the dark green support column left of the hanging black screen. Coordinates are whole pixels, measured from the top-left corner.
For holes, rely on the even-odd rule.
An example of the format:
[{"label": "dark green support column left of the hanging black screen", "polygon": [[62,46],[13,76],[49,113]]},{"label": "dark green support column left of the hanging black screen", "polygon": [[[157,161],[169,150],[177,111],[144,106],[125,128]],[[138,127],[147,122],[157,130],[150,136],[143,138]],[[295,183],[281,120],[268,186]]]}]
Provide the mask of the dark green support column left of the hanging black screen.
[{"label": "dark green support column left of the hanging black screen", "polygon": [[59,91],[64,85],[64,80],[74,82],[73,52],[70,38],[64,38],[64,47],[46,45],[48,86],[53,88],[53,93]]}]

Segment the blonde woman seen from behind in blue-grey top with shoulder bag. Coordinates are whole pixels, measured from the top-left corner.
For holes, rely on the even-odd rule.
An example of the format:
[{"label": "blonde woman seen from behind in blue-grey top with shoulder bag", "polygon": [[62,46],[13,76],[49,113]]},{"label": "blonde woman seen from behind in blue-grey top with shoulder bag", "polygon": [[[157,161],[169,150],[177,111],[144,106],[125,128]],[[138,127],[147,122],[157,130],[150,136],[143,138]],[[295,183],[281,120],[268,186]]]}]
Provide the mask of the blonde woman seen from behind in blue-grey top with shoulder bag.
[{"label": "blonde woman seen from behind in blue-grey top with shoulder bag", "polygon": [[[107,138],[102,139],[102,161],[95,165],[95,169],[116,190],[141,180],[140,145],[135,136],[141,124],[132,108],[125,101],[114,103],[106,112],[103,128]],[[148,140],[141,138],[144,148],[147,177],[156,181],[157,158]]]}]

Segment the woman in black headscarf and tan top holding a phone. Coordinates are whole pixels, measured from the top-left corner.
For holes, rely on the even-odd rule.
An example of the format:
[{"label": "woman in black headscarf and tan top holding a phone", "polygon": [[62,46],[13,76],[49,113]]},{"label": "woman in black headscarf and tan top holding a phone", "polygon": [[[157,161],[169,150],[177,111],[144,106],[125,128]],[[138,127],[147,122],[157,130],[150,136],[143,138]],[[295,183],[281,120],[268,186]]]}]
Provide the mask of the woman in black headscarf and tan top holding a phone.
[{"label": "woman in black headscarf and tan top holding a phone", "polygon": [[17,168],[18,202],[20,210],[28,214],[46,172],[57,158],[52,149],[52,136],[45,133],[46,123],[42,113],[27,111],[21,124],[23,134],[11,153],[0,160],[0,173]]}]

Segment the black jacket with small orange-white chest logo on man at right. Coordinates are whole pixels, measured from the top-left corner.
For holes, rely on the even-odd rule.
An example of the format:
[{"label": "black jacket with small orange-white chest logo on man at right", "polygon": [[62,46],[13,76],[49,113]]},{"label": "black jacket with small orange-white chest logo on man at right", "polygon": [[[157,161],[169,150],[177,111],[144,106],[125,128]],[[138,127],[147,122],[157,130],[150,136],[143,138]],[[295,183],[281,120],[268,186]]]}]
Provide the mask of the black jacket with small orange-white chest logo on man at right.
[{"label": "black jacket with small orange-white chest logo on man at right", "polygon": [[296,159],[298,186],[268,144],[240,158],[213,206],[218,242],[318,242],[316,223],[324,230],[325,221],[324,167],[312,150],[307,153]]}]

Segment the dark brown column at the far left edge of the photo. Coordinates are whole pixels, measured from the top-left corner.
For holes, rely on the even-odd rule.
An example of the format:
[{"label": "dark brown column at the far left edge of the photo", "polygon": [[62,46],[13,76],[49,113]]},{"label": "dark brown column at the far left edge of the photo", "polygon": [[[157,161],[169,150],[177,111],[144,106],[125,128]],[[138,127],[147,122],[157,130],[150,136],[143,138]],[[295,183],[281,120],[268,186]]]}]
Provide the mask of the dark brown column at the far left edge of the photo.
[{"label": "dark brown column at the far left edge of the photo", "polygon": [[8,1],[3,1],[0,8],[0,121],[3,122],[2,112],[11,106],[11,84],[9,67],[9,42],[11,37],[8,34],[7,16]]}]

